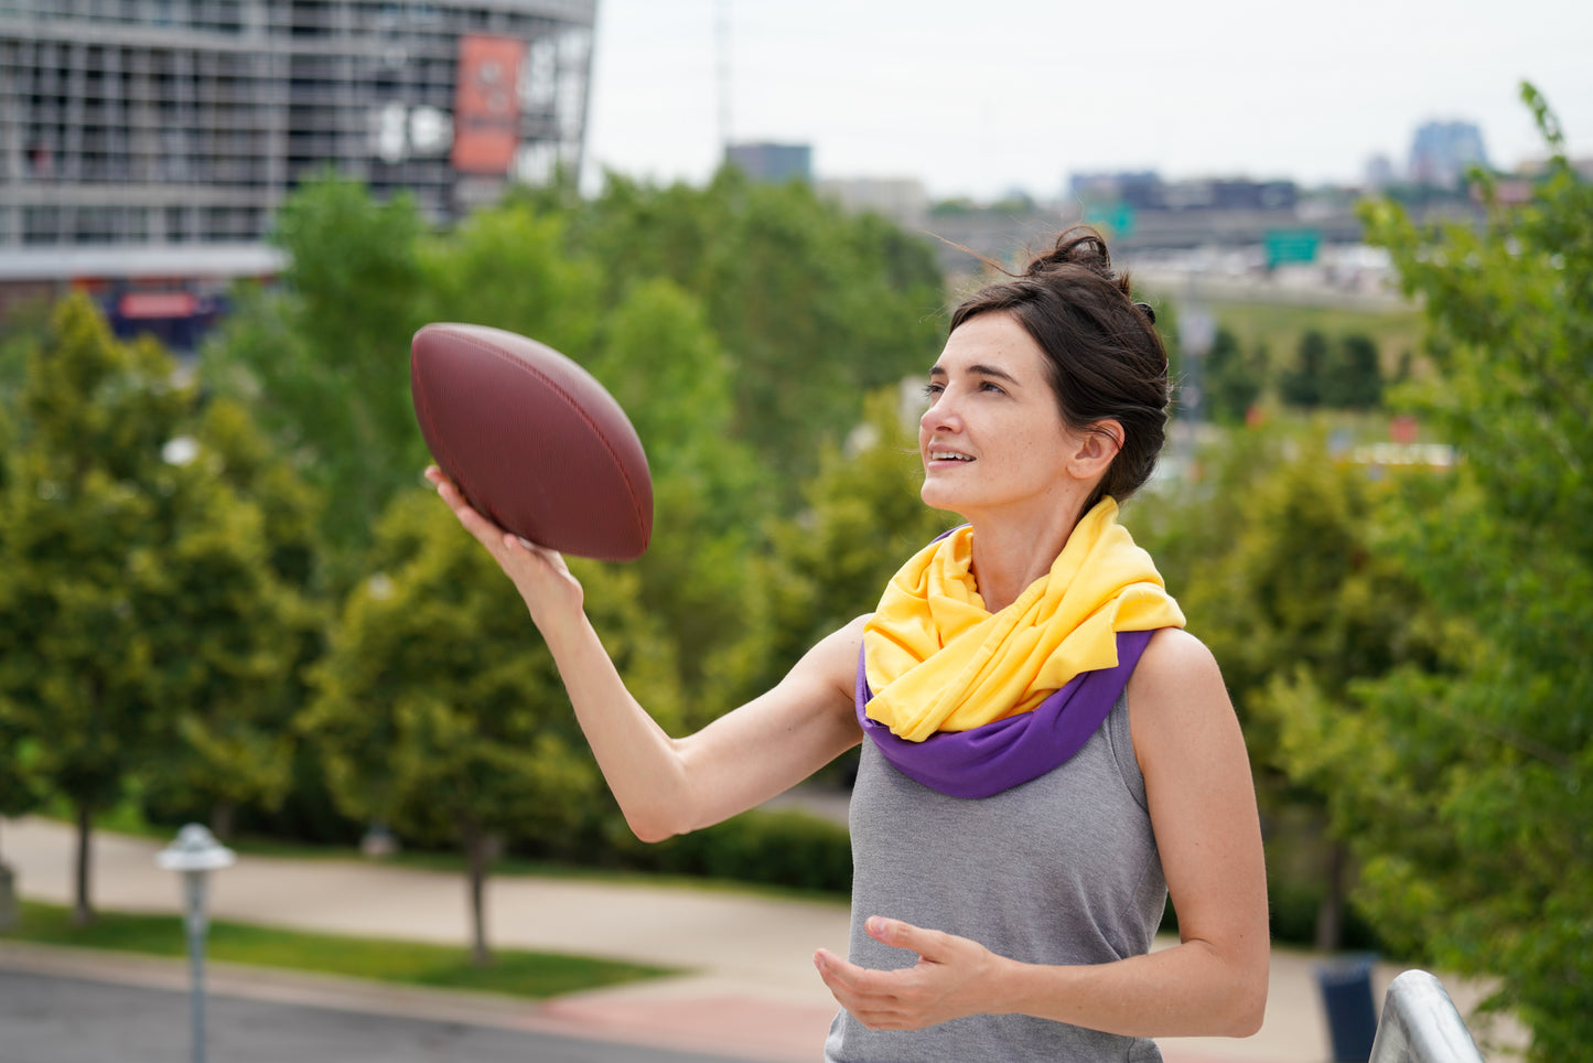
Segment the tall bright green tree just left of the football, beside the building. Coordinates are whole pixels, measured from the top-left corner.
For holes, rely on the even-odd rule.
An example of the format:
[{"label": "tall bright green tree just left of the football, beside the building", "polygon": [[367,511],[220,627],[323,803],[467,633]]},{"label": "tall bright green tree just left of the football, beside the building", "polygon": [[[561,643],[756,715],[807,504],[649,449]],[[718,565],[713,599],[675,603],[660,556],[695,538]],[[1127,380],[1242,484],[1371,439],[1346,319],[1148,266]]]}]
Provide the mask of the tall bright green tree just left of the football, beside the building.
[{"label": "tall bright green tree just left of the football, beside the building", "polygon": [[376,202],[335,175],[307,183],[271,234],[288,255],[282,287],[244,288],[204,351],[209,386],[249,403],[322,491],[341,569],[425,464],[409,402],[409,339],[429,312],[424,234],[406,196]]}]

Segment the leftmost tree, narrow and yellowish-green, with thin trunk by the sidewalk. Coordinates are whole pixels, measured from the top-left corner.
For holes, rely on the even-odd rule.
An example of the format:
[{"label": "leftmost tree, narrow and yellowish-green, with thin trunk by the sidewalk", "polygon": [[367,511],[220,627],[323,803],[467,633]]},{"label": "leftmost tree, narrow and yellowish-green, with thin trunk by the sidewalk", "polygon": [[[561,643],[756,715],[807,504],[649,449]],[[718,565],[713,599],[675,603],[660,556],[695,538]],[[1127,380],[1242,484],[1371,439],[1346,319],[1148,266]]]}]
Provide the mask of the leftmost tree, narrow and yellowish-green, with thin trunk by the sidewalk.
[{"label": "leftmost tree, narrow and yellowish-green, with thin trunk by the sidewalk", "polygon": [[164,443],[191,403],[150,339],[119,344],[86,296],[56,309],[18,395],[0,505],[0,717],[75,811],[75,918],[92,918],[89,837],[169,732],[140,612],[180,505]]}]

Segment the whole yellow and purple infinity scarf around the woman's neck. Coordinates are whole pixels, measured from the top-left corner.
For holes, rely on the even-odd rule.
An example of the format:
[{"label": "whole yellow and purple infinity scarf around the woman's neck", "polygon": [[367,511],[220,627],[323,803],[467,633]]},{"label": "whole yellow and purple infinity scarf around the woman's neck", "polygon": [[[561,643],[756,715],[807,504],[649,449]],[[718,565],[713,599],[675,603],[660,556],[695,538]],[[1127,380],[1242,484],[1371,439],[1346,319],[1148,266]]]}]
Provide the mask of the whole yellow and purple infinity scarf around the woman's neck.
[{"label": "whole yellow and purple infinity scarf around the woman's neck", "polygon": [[[1064,762],[1106,719],[1149,633],[1184,626],[1110,497],[1078,521],[1050,572],[997,614],[984,610],[972,559],[973,531],[959,528],[902,566],[863,631],[859,663],[865,733],[897,767],[933,763],[926,775],[935,783],[906,773],[943,792],[992,765],[1043,765],[1027,775],[1035,778]],[[1007,768],[967,786],[1002,783]]]}]

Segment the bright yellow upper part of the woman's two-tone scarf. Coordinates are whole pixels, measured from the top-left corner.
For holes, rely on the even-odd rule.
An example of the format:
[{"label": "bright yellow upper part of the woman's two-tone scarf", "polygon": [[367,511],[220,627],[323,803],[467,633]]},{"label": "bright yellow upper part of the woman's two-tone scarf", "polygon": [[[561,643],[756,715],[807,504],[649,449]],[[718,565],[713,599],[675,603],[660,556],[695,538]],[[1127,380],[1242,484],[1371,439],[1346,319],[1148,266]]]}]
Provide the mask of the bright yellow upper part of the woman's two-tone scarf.
[{"label": "bright yellow upper part of the woman's two-tone scarf", "polygon": [[1182,628],[1150,555],[1091,508],[1051,571],[1018,601],[986,612],[975,586],[973,529],[919,550],[890,579],[863,633],[868,719],[924,741],[1027,712],[1080,673],[1114,668],[1118,631]]}]

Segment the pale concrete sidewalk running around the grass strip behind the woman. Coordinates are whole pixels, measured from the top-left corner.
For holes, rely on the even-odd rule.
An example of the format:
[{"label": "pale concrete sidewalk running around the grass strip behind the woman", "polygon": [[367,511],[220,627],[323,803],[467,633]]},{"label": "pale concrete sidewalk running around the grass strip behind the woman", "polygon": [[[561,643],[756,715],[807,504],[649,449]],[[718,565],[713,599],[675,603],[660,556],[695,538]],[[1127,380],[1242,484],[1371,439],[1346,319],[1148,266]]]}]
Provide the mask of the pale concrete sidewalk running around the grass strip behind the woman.
[{"label": "pale concrete sidewalk running around the grass strip behind the woman", "polygon": [[[70,904],[73,832],[45,819],[0,824],[0,857],[29,900]],[[94,905],[178,912],[177,877],[155,865],[161,843],[97,832]],[[468,940],[462,875],[349,861],[242,856],[212,877],[210,913],[266,926],[443,943]],[[690,888],[605,881],[494,878],[487,937],[497,947],[578,953],[687,969],[658,979],[543,1002],[373,985],[218,964],[217,996],[350,1012],[427,1017],[538,1030],[653,1049],[766,1063],[812,1063],[835,1014],[812,951],[846,951],[841,904],[777,900]],[[1276,950],[1262,1031],[1244,1041],[1168,1038],[1168,1063],[1325,1063],[1329,1034],[1316,985],[1319,958]],[[0,943],[0,967],[126,985],[185,988],[186,967],[80,950]],[[1381,1002],[1399,974],[1380,967]],[[1454,993],[1464,1009],[1469,1001]]]}]

